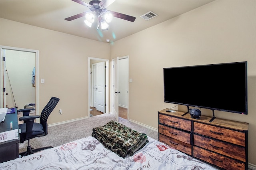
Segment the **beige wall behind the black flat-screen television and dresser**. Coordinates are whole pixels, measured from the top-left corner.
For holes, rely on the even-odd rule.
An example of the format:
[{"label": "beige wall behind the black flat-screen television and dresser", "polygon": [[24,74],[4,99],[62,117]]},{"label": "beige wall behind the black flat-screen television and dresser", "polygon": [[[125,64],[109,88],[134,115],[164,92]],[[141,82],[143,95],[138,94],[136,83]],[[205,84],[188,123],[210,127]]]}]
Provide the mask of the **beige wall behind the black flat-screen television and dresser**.
[{"label": "beige wall behind the black flat-screen television and dresser", "polygon": [[[124,55],[129,55],[133,79],[129,118],[154,128],[158,128],[157,111],[174,106],[164,103],[164,67],[248,61],[248,115],[216,111],[215,116],[249,123],[249,162],[256,164],[255,0],[212,2],[114,42],[111,58]],[[184,82],[174,83],[190,79],[197,77],[184,76]],[[212,112],[202,109],[202,114]]]}]

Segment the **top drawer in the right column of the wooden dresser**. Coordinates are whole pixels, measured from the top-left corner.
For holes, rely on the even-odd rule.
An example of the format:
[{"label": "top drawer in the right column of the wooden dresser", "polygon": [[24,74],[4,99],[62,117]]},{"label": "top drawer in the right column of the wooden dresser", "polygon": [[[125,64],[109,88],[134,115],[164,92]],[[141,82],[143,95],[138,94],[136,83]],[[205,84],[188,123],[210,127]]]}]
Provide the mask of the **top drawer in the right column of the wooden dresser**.
[{"label": "top drawer in the right column of the wooden dresser", "polygon": [[194,122],[194,133],[245,146],[245,133]]}]

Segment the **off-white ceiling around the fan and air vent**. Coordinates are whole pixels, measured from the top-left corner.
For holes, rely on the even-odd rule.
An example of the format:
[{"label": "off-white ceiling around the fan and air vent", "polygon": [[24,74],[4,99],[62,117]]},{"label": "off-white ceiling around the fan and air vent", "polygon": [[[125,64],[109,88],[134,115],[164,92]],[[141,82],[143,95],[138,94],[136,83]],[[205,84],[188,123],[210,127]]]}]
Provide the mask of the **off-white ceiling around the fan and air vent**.
[{"label": "off-white ceiling around the fan and air vent", "polygon": [[[136,17],[134,22],[113,18],[107,31],[88,28],[84,18],[66,21],[64,18],[89,12],[89,8],[72,0],[0,0],[0,17],[92,40],[110,42],[169,20],[175,16],[208,4],[214,0],[116,0],[107,10]],[[89,3],[90,0],[84,0]],[[151,20],[140,16],[152,11]]]}]

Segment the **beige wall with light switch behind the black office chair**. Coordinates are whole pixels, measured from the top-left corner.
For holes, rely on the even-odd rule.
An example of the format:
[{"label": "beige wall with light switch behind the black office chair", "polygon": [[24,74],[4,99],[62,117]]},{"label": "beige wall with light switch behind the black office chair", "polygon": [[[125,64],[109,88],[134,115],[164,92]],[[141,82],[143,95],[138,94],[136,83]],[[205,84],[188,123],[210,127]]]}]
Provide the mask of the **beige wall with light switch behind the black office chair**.
[{"label": "beige wall with light switch behind the black office chair", "polygon": [[39,85],[39,111],[50,97],[60,98],[48,124],[87,117],[88,57],[108,59],[110,45],[3,18],[0,22],[0,45],[39,50],[37,75],[45,79]]}]

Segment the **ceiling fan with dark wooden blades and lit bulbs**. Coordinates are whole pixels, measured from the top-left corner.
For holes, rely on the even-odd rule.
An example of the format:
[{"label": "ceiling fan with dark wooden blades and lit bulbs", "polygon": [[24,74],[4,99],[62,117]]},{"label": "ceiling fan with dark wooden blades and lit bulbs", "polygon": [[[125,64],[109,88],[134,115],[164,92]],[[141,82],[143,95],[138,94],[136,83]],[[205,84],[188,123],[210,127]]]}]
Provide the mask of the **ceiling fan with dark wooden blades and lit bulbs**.
[{"label": "ceiling fan with dark wooden blades and lit bulbs", "polygon": [[70,16],[68,18],[65,18],[67,21],[72,21],[80,17],[85,16],[85,24],[89,27],[92,27],[92,23],[94,22],[95,18],[97,21],[97,30],[99,27],[101,27],[102,30],[108,30],[108,24],[111,22],[112,17],[120,18],[123,20],[127,20],[130,22],[135,21],[134,16],[129,16],[126,14],[121,14],[119,12],[114,12],[114,11],[107,11],[107,7],[112,4],[115,0],[92,0],[87,4],[86,2],[82,0],[72,0],[74,2],[77,2],[83,6],[88,7],[91,12],[83,12],[81,14],[76,14],[74,16]]}]

